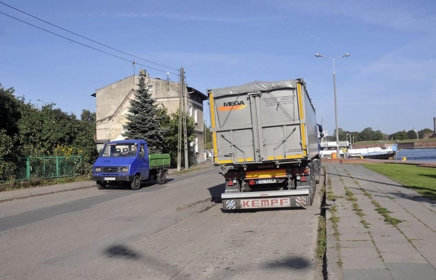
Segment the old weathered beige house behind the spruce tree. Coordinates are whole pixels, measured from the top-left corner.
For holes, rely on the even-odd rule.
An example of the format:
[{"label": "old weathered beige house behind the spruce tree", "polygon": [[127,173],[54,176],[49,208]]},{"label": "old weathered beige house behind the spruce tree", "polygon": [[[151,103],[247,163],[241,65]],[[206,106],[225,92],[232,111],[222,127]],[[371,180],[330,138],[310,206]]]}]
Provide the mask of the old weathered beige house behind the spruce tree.
[{"label": "old weathered beige house behind the spruce tree", "polygon": [[[181,83],[159,78],[150,78],[145,75],[145,83],[151,98],[156,103],[163,104],[168,113],[177,112],[179,109]],[[92,96],[96,98],[96,143],[97,147],[107,141],[124,139],[122,137],[123,124],[126,122],[125,115],[128,113],[129,100],[135,98],[138,89],[138,75],[132,75],[110,85],[98,89]],[[204,154],[204,116],[203,101],[207,96],[191,87],[186,87],[187,106],[186,111],[195,122],[195,141],[188,143],[198,162],[206,160]]]}]

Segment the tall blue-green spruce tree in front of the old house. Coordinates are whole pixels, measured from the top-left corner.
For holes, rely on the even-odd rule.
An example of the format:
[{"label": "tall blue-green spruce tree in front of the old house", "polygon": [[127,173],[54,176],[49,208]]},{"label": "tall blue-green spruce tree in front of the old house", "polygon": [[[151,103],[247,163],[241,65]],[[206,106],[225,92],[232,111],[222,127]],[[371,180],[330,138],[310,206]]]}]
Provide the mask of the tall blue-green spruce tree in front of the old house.
[{"label": "tall blue-green spruce tree in front of the old house", "polygon": [[164,119],[162,115],[158,115],[156,101],[148,92],[145,74],[142,72],[139,75],[138,87],[135,98],[130,100],[127,122],[123,125],[125,133],[122,135],[128,139],[144,139],[148,143],[150,153],[160,153],[166,132],[162,128]]}]

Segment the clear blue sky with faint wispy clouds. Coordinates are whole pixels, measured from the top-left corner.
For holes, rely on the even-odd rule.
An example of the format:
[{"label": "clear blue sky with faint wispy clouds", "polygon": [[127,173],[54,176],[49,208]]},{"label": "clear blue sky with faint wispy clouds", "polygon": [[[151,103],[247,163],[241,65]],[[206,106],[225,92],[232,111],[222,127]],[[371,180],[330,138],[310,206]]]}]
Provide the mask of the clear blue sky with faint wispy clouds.
[{"label": "clear blue sky with faint wispy clouds", "polygon": [[[254,80],[306,80],[317,121],[390,134],[433,129],[436,116],[436,2],[415,1],[48,1],[0,0],[125,53],[183,67],[190,87]],[[134,58],[42,23],[3,4],[0,11],[116,58],[0,14],[0,83],[39,106],[95,112],[96,89],[134,73]],[[151,77],[173,69],[138,62]],[[139,67],[136,67],[138,72]],[[171,80],[178,81],[176,75]],[[209,111],[206,110],[207,123]]]}]

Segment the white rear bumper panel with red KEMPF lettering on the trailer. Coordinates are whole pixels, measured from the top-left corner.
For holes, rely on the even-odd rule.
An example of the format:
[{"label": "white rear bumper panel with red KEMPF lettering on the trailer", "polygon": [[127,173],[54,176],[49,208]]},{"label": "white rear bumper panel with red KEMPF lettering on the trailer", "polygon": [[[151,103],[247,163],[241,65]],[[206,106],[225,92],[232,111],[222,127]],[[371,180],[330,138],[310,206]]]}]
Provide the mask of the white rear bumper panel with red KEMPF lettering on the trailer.
[{"label": "white rear bumper panel with red KEMPF lettering on the trailer", "polygon": [[[247,193],[228,194],[223,193],[223,209],[257,209],[257,208],[282,208],[282,207],[305,207],[310,206],[309,191],[298,191],[298,194],[289,196],[273,196],[277,193],[250,193],[249,197],[240,196],[247,195]],[[226,198],[233,197],[233,198]]]}]

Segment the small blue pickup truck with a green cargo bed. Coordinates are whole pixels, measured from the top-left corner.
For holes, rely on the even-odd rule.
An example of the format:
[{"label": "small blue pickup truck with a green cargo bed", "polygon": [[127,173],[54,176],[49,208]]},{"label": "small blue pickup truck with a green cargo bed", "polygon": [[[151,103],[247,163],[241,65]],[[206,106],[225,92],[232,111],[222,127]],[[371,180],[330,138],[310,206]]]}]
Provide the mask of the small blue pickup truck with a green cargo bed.
[{"label": "small blue pickup truck with a green cargo bed", "polygon": [[133,190],[141,181],[156,179],[165,184],[170,166],[169,154],[148,154],[145,140],[106,142],[93,166],[93,180],[98,189],[107,185],[128,183]]}]

